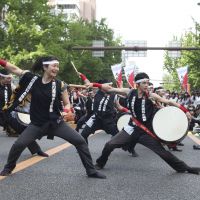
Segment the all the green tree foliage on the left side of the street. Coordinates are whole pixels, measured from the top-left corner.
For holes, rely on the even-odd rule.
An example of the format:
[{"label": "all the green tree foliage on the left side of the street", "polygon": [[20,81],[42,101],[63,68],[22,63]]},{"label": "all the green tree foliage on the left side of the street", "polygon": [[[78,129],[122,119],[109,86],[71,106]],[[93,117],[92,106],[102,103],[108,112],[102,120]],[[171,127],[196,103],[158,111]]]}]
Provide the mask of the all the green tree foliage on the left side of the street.
[{"label": "all the green tree foliage on the left side of the street", "polygon": [[89,79],[112,78],[110,65],[121,61],[120,52],[106,52],[103,58],[92,57],[91,51],[72,51],[72,46],[91,46],[92,40],[104,40],[106,46],[120,44],[106,20],[91,23],[66,20],[54,15],[47,0],[1,1],[0,11],[6,10],[0,26],[0,57],[29,69],[38,56],[54,55],[60,61],[60,77],[67,82],[79,81],[71,66]]}]

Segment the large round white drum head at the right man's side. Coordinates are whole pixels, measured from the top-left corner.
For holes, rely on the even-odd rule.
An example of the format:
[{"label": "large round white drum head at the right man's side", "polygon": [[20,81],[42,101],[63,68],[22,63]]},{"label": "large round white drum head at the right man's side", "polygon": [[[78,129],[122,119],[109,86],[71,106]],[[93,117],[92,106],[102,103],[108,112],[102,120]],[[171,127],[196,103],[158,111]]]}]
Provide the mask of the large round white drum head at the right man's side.
[{"label": "large round white drum head at the right man's side", "polygon": [[164,143],[178,143],[187,135],[188,119],[177,107],[168,106],[157,111],[153,118],[155,135]]}]

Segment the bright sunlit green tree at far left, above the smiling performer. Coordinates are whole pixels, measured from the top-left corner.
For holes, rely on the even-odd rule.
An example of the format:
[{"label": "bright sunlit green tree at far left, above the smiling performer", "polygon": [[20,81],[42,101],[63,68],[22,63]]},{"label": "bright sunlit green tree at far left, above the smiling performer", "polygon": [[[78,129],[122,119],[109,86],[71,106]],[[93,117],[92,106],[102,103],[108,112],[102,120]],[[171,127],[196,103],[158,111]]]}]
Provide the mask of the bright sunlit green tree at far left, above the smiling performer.
[{"label": "bright sunlit green tree at far left, above the smiling performer", "polygon": [[[47,0],[7,0],[8,10],[0,55],[11,62],[29,66],[39,55],[54,54],[62,57],[60,48],[66,21],[51,14]],[[61,47],[60,47],[61,45]]]}]

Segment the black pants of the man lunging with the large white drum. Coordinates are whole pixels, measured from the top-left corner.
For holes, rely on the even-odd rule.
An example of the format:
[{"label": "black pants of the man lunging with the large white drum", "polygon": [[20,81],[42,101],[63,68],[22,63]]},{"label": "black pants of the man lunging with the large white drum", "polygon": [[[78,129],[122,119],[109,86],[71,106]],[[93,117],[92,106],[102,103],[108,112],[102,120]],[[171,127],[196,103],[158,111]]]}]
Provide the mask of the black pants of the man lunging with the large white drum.
[{"label": "black pants of the man lunging with the large white drum", "polygon": [[120,131],[115,135],[109,142],[107,142],[102,151],[102,155],[97,159],[97,163],[103,167],[111,152],[115,148],[120,148],[130,142],[135,142],[144,145],[145,147],[151,149],[158,156],[160,156],[169,166],[171,166],[177,172],[184,172],[187,170],[188,166],[176,156],[174,156],[169,151],[165,150],[162,144],[146,134],[143,130],[137,129],[132,135],[129,135],[124,130]]}]

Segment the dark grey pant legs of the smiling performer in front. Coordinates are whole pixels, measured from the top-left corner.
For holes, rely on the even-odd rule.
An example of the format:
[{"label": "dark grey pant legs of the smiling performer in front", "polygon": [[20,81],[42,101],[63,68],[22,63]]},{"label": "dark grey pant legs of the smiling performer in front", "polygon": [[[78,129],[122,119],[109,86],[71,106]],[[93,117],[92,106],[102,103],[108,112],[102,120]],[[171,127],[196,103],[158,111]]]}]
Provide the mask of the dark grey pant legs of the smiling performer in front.
[{"label": "dark grey pant legs of the smiling performer in front", "polygon": [[[75,130],[73,130],[70,126],[65,122],[61,122],[58,127],[51,131],[54,136],[63,138],[69,143],[73,144],[81,158],[81,161],[86,169],[87,174],[93,174],[96,172],[94,165],[92,163],[92,157],[90,155],[88,145]],[[7,164],[5,165],[5,169],[13,170],[16,166],[16,162],[20,157],[23,150],[35,141],[38,138],[43,136],[43,132],[41,128],[30,124],[18,137],[13,146],[10,149]]]}]

